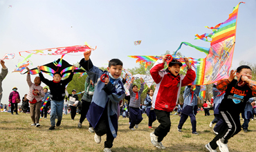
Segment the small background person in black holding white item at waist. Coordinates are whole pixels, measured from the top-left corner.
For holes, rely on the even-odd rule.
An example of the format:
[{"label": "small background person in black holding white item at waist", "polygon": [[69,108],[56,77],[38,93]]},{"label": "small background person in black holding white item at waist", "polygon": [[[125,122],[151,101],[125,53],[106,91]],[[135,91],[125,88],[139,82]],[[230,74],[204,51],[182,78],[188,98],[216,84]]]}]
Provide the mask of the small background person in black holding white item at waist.
[{"label": "small background person in black holding white item at waist", "polygon": [[68,91],[65,91],[66,96],[69,98],[69,108],[71,109],[71,119],[74,120],[75,119],[75,115],[76,115],[76,108],[77,108],[77,104],[78,104],[78,96],[76,95],[76,91],[75,89],[73,89],[72,94],[68,94]]}]

